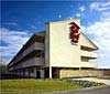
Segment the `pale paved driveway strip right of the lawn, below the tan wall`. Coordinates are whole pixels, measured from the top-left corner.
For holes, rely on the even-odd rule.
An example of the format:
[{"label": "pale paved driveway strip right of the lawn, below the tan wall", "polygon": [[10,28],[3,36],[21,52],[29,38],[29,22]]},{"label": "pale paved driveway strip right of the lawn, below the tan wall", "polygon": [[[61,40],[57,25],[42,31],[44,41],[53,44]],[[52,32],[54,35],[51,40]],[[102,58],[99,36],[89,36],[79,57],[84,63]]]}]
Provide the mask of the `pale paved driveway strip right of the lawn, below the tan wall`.
[{"label": "pale paved driveway strip right of the lawn, below the tan wall", "polygon": [[91,82],[99,82],[110,85],[110,80],[105,79],[96,79],[96,77],[84,77],[84,79],[72,79],[72,80],[80,80],[80,81],[91,81]]}]

